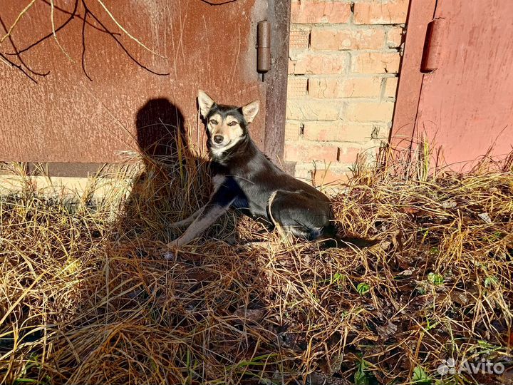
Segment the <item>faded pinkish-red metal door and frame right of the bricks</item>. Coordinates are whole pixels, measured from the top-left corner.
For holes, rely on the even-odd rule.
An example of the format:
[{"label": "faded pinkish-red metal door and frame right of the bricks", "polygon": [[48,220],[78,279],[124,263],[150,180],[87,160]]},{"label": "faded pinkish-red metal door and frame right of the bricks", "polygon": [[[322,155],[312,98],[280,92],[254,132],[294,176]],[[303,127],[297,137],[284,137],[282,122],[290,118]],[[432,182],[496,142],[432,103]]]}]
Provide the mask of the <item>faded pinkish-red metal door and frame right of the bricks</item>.
[{"label": "faded pinkish-red metal door and frame right of the bricks", "polygon": [[[412,41],[420,35],[415,26],[422,24],[419,20],[424,6],[421,1],[412,1]],[[440,146],[436,160],[450,164],[452,170],[470,170],[473,160],[489,148],[489,155],[495,158],[504,158],[513,150],[512,20],[513,1],[437,1],[434,21],[427,29],[422,66],[422,48],[408,46],[407,37],[405,77],[415,61],[415,71],[425,72],[418,83],[420,93],[411,133],[414,137],[425,133],[432,145]],[[416,40],[417,46],[424,42]],[[415,45],[415,41],[412,43]],[[416,52],[417,57],[413,57]],[[416,78],[418,75],[411,76],[412,80]],[[411,113],[408,118],[408,106],[402,104],[406,98],[401,98],[411,95],[415,81],[400,81],[404,82],[398,92],[395,133],[404,133],[405,128],[408,131],[409,119],[413,118]]]}]

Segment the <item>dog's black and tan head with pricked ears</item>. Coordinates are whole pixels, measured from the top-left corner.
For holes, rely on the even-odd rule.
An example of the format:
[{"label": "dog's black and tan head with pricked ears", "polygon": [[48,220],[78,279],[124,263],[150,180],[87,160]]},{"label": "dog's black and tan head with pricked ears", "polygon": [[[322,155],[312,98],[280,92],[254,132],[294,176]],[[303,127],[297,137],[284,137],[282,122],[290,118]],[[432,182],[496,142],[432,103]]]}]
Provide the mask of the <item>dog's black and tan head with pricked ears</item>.
[{"label": "dog's black and tan head with pricked ears", "polygon": [[198,91],[199,113],[209,132],[209,147],[214,155],[221,155],[249,135],[247,126],[259,111],[259,101],[244,107],[215,103],[206,93]]}]

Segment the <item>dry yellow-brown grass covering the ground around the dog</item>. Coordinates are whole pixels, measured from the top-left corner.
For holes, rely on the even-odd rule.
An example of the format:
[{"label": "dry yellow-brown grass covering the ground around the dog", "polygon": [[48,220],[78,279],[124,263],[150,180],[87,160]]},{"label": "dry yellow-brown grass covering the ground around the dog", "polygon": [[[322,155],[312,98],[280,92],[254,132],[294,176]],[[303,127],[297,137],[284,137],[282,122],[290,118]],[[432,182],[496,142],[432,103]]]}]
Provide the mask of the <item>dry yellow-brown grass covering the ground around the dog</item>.
[{"label": "dry yellow-brown grass covering the ground around the dog", "polygon": [[157,250],[208,194],[198,160],[127,165],[111,176],[133,180],[132,193],[98,201],[48,196],[25,176],[0,200],[0,383],[503,379],[436,369],[450,358],[511,366],[511,163],[357,170],[336,217],[377,245],[284,245],[229,214],[176,261]]}]

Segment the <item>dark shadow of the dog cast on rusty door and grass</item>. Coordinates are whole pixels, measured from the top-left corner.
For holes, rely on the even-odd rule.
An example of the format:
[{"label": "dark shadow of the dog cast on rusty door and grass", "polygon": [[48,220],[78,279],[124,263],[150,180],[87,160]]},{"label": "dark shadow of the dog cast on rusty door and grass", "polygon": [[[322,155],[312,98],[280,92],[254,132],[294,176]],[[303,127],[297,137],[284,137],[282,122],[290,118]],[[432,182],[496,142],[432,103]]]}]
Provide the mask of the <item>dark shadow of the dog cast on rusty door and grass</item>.
[{"label": "dark shadow of the dog cast on rusty door and grass", "polygon": [[[170,242],[177,232],[170,224],[179,219],[177,215],[198,208],[187,201],[190,170],[206,176],[207,164],[190,151],[182,112],[167,98],[147,101],[136,115],[135,127],[140,162],[123,210],[125,234],[138,242]],[[206,182],[197,200],[208,193]]]}]

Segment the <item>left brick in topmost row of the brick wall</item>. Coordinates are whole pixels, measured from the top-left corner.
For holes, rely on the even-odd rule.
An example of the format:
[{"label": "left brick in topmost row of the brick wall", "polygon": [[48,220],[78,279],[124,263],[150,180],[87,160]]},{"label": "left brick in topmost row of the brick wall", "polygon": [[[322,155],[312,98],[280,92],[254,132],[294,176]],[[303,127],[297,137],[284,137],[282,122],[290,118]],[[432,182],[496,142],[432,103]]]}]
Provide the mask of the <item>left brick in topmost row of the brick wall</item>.
[{"label": "left brick in topmost row of the brick wall", "polygon": [[347,23],[350,16],[350,3],[315,0],[291,3],[291,23]]}]

